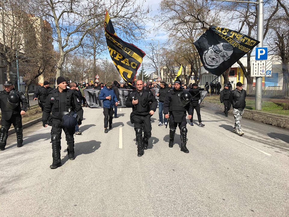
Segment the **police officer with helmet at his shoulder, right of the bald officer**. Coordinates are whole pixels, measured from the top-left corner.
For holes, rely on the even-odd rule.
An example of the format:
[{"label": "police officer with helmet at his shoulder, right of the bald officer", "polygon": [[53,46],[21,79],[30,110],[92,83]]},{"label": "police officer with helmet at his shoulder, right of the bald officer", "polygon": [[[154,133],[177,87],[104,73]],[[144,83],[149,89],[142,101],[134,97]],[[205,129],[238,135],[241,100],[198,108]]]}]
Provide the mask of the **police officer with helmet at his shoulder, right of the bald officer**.
[{"label": "police officer with helmet at his shoulder, right of the bald officer", "polygon": [[174,89],[169,90],[166,94],[163,103],[163,113],[165,118],[169,118],[169,147],[174,145],[174,137],[176,127],[179,125],[181,133],[181,151],[189,153],[186,147],[187,144],[187,120],[186,114],[188,111],[188,119],[192,118],[191,94],[183,92],[181,88],[181,80],[177,78],[174,83]]}]

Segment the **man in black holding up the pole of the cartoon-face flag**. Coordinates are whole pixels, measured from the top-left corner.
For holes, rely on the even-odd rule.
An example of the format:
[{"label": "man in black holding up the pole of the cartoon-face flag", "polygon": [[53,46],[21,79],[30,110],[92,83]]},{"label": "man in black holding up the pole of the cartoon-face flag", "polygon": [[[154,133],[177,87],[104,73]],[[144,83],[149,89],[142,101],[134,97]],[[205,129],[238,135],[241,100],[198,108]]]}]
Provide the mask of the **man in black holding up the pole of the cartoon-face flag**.
[{"label": "man in black holding up the pole of the cartoon-face flag", "polygon": [[199,121],[199,127],[204,127],[205,126],[205,124],[202,124],[201,113],[200,113],[199,100],[201,99],[201,94],[200,94],[201,90],[204,90],[204,89],[198,88],[198,85],[196,83],[193,83],[193,88],[191,90],[189,90],[189,93],[191,93],[191,95],[192,95],[192,99],[191,99],[192,117],[190,119],[191,126],[194,126],[194,124],[193,124],[194,109],[197,112],[198,121]]}]

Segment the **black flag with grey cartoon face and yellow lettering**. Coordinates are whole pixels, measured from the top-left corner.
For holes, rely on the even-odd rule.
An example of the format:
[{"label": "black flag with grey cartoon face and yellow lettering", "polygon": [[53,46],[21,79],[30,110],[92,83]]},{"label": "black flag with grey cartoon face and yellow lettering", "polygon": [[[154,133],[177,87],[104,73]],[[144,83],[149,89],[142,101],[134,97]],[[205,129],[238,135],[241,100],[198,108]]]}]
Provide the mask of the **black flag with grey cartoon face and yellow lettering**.
[{"label": "black flag with grey cartoon face and yellow lettering", "polygon": [[194,45],[204,68],[219,76],[259,43],[238,31],[210,27]]}]

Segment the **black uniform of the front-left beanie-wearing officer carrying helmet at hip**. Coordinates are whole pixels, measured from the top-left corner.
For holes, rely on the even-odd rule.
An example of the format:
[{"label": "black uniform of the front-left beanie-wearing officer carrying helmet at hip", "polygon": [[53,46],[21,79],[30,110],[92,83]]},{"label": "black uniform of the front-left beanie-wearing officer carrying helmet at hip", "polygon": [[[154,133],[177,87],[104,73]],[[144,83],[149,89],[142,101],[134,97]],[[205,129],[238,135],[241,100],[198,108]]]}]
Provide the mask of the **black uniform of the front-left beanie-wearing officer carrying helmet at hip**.
[{"label": "black uniform of the front-left beanie-wearing officer carrying helmet at hip", "polygon": [[51,128],[51,143],[52,143],[52,168],[53,165],[61,165],[60,150],[61,150],[61,132],[65,133],[67,141],[67,153],[69,159],[74,159],[74,138],[75,126],[66,128],[62,126],[59,114],[61,112],[73,112],[75,111],[79,115],[78,124],[81,124],[83,109],[81,102],[78,99],[78,93],[71,89],[65,89],[62,93],[56,88],[48,93],[44,111],[42,114],[43,126],[47,124],[48,115],[51,112],[52,128]]}]

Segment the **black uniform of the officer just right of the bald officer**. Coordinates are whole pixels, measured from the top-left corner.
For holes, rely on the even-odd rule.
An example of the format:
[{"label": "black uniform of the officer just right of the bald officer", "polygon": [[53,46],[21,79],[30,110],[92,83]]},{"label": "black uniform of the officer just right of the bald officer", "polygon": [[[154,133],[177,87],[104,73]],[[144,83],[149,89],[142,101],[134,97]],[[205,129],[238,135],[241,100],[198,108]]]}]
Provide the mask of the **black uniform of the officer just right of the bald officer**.
[{"label": "black uniform of the officer just right of the bald officer", "polygon": [[176,127],[179,125],[181,133],[181,151],[189,153],[187,144],[187,112],[192,115],[192,106],[188,103],[185,107],[178,104],[180,97],[178,93],[182,92],[182,89],[176,90],[175,88],[169,90],[166,94],[165,101],[163,102],[163,114],[169,114],[169,147],[172,148],[174,144],[174,137],[176,133]]}]

